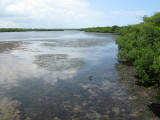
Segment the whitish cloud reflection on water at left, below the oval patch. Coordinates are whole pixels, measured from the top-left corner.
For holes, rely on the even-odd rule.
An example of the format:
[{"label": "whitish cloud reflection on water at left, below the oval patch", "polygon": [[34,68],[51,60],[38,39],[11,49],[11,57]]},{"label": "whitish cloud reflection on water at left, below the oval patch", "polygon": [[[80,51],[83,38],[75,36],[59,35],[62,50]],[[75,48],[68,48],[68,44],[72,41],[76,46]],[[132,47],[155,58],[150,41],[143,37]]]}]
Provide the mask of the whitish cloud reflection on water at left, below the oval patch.
[{"label": "whitish cloud reflection on water at left, below the oval patch", "polygon": [[19,81],[27,78],[38,77],[55,84],[58,79],[72,79],[77,73],[76,69],[64,71],[40,69],[31,60],[13,55],[1,55],[0,59],[0,85],[4,88],[16,86]]}]

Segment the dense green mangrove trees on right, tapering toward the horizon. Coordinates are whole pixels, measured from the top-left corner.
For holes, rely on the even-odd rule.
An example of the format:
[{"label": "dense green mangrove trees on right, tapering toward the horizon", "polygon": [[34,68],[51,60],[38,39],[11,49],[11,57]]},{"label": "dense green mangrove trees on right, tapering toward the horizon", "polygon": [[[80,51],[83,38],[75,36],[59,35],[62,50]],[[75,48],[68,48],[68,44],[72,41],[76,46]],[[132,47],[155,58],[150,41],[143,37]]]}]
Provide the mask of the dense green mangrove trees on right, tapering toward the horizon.
[{"label": "dense green mangrove trees on right, tapering toward the horizon", "polygon": [[[116,39],[119,46],[118,57],[136,67],[141,84],[149,89],[160,88],[160,12],[151,17],[144,16],[140,24],[80,30],[120,34]],[[160,92],[156,98],[160,99]]]}]

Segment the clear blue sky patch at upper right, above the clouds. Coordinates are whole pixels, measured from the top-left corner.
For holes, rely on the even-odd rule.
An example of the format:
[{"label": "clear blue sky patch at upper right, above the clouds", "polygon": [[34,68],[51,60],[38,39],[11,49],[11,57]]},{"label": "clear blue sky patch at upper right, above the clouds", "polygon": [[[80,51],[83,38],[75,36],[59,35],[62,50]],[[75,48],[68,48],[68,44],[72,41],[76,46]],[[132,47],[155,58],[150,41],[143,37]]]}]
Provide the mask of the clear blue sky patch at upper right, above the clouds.
[{"label": "clear blue sky patch at upper right, above the clouds", "polygon": [[83,0],[89,2],[92,9],[101,12],[125,10],[136,11],[144,10],[149,13],[157,12],[159,8],[159,0]]}]

